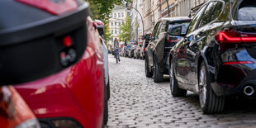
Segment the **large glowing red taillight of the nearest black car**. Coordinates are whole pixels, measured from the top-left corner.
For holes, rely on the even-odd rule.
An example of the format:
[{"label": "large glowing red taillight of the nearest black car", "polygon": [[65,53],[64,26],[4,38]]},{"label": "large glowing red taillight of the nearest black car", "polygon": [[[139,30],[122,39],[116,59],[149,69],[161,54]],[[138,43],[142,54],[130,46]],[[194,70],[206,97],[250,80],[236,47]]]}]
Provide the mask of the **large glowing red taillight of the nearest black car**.
[{"label": "large glowing red taillight of the nearest black car", "polygon": [[256,35],[240,33],[237,31],[220,31],[218,35],[216,35],[216,40],[222,43],[255,43]]}]

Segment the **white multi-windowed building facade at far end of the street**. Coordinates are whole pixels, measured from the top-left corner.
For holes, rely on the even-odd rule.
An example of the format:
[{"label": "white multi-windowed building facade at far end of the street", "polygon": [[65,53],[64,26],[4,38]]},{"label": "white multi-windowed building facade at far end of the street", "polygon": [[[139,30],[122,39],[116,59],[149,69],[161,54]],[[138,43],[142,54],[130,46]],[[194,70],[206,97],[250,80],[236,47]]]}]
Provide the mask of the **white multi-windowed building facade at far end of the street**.
[{"label": "white multi-windowed building facade at far end of the street", "polygon": [[130,17],[130,10],[125,6],[115,5],[111,12],[111,18],[109,19],[109,31],[111,31],[111,40],[115,38],[119,39],[120,25],[126,21],[126,17]]}]

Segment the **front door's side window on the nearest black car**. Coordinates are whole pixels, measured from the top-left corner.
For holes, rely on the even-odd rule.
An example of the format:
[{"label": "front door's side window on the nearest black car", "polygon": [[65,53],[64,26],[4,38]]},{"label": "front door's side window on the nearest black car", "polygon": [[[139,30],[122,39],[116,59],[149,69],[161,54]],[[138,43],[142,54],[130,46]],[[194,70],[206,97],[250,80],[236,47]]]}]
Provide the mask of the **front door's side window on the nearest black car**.
[{"label": "front door's side window on the nearest black car", "polygon": [[199,21],[201,14],[205,11],[206,5],[204,7],[201,7],[201,10],[197,12],[197,15],[193,18],[193,20],[190,22],[190,25],[187,29],[187,34],[197,29],[197,22]]}]

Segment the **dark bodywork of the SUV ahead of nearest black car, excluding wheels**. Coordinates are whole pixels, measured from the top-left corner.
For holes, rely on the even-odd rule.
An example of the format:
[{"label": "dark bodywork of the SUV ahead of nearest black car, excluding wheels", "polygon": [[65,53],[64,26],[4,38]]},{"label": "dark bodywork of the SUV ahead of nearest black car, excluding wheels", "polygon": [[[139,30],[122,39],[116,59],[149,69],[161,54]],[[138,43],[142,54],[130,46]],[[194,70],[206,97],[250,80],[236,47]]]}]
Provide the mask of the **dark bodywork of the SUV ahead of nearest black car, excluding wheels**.
[{"label": "dark bodywork of the SUV ahead of nearest black car, excluding wheels", "polygon": [[[172,22],[179,21],[190,21],[187,17],[180,17],[180,19],[160,19],[159,22],[154,26],[154,30],[152,32],[152,39],[149,40],[149,45],[145,50],[145,58],[147,58],[149,62],[149,66],[153,67],[154,61],[159,64],[159,69],[161,73],[168,74],[168,55],[169,50],[173,48],[173,46],[177,42],[167,43],[168,37],[168,29],[166,27]],[[177,40],[177,38],[173,38]],[[152,69],[152,68],[150,68]]]}]

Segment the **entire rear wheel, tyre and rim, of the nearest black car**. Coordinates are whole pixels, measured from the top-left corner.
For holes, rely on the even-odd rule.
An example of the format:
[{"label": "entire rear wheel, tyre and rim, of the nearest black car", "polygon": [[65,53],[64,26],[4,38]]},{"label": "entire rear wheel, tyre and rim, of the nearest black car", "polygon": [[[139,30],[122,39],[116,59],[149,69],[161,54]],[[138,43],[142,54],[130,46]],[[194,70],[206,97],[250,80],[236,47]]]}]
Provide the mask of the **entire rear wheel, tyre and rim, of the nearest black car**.
[{"label": "entire rear wheel, tyre and rim, of the nearest black car", "polygon": [[220,113],[224,110],[225,97],[218,97],[211,88],[211,80],[206,64],[201,63],[198,73],[199,102],[201,110],[206,114]]}]

